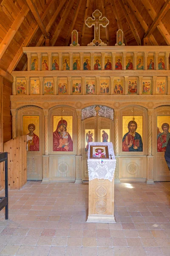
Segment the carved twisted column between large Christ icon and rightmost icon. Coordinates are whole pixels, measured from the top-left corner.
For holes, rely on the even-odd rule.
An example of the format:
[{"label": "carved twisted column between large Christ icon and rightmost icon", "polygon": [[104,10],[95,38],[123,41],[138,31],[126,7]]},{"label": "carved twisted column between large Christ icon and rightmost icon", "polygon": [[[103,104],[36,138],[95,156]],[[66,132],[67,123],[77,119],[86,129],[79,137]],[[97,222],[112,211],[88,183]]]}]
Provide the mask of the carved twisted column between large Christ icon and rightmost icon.
[{"label": "carved twisted column between large Christ icon and rightmost icon", "polygon": [[152,156],[152,116],[153,109],[148,109],[148,156],[147,156],[147,184],[153,184],[153,156]]}]

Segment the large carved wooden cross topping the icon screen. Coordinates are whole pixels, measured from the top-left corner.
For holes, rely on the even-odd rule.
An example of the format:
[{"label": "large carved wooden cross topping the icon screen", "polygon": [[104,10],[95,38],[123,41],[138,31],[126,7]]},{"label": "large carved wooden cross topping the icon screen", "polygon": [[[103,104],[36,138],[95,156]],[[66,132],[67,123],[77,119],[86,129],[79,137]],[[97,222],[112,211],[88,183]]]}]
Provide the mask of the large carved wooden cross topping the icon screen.
[{"label": "large carved wooden cross topping the icon screen", "polygon": [[[85,20],[85,24],[91,28],[94,26],[94,40],[92,41],[95,45],[99,45],[102,43],[102,40],[100,39],[100,26],[106,27],[108,26],[109,20],[106,17],[102,17],[102,13],[99,10],[95,10],[92,14],[94,17],[88,17],[87,20]],[[102,17],[102,19],[100,19]]]}]

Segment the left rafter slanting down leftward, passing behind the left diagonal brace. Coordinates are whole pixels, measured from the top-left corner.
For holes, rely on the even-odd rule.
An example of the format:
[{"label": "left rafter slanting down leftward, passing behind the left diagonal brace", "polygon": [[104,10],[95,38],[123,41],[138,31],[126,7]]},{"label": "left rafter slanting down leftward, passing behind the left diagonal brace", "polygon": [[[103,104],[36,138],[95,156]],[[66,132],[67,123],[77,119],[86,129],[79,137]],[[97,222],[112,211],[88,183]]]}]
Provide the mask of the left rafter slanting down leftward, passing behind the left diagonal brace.
[{"label": "left rafter slanting down leftward, passing behind the left diagonal brace", "polygon": [[[59,12],[61,11],[62,7],[64,6],[66,0],[61,0],[59,3],[59,6],[57,7],[57,10],[54,12],[54,15],[51,17],[51,20],[48,22],[48,25],[46,26],[46,31],[49,33],[51,26],[53,26],[55,20],[57,19],[57,16],[59,15]],[[43,35],[41,35],[40,39],[38,40],[36,46],[41,46],[45,41],[45,38]]]}]

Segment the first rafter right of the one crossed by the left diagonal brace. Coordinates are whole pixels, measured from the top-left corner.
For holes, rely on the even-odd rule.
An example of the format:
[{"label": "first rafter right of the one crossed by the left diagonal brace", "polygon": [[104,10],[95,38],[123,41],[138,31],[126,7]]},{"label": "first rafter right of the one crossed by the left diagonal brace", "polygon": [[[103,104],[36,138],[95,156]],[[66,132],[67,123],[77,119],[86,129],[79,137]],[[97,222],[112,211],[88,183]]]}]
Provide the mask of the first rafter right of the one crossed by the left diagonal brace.
[{"label": "first rafter right of the one crossed by the left diagonal brace", "polygon": [[64,24],[65,24],[65,21],[67,20],[67,17],[68,17],[68,15],[71,12],[73,4],[74,4],[74,0],[71,0],[71,1],[68,2],[67,6],[66,6],[66,8],[65,8],[65,10],[64,10],[64,12],[62,14],[61,20],[59,21],[59,24],[58,24],[58,26],[56,28],[56,31],[54,32],[54,35],[53,35],[53,37],[51,39],[51,46],[55,45],[55,43],[57,41],[57,38],[59,37],[59,34],[60,34]]}]

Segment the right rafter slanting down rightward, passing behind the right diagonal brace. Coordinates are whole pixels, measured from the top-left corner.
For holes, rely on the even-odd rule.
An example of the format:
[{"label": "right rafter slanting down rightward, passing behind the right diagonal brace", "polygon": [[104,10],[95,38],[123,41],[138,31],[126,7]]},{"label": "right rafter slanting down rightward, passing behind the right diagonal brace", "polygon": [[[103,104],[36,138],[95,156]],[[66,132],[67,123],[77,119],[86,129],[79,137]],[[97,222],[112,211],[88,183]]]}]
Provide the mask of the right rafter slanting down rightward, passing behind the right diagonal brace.
[{"label": "right rafter slanting down rightward, passing behind the right diagonal brace", "polygon": [[[145,9],[147,10],[148,14],[150,15],[151,19],[154,20],[157,14],[153,9],[152,5],[150,4],[150,2],[148,0],[142,0],[142,3]],[[170,34],[167,32],[167,29],[164,27],[164,24],[161,21],[159,21],[159,25],[157,26],[157,29],[161,33],[167,45],[170,45]]]}]

